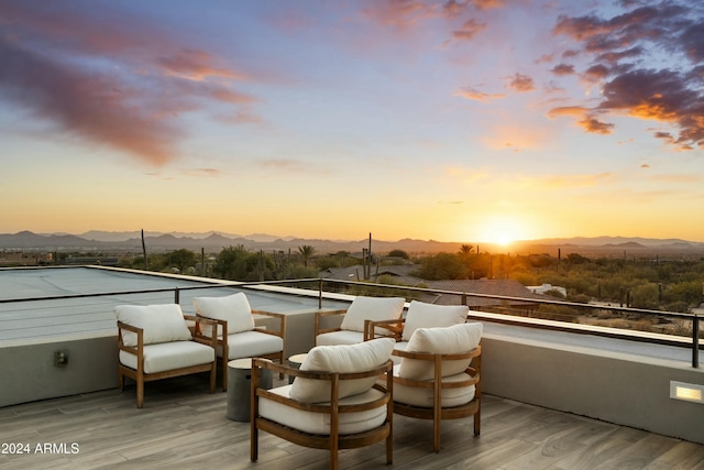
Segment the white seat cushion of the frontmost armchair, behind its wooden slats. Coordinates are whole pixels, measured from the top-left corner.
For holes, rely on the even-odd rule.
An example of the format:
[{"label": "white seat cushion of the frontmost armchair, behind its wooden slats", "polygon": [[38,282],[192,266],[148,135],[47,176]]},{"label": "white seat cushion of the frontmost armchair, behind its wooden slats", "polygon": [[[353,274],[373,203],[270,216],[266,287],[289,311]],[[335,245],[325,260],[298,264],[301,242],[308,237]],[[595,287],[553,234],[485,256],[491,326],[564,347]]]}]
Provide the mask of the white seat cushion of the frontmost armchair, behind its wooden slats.
[{"label": "white seat cushion of the frontmost armchair, behind its wooden slats", "polygon": [[[280,386],[272,390],[271,392],[274,392],[277,395],[290,397],[292,386],[293,385]],[[369,403],[381,398],[383,395],[384,394],[381,391],[370,389],[362,394],[341,398],[339,403],[341,405]],[[271,400],[260,398],[260,415],[305,433],[330,435],[330,415],[327,413],[305,412]],[[374,429],[384,424],[385,419],[386,405],[365,412],[340,413],[338,433],[346,435]]]}]

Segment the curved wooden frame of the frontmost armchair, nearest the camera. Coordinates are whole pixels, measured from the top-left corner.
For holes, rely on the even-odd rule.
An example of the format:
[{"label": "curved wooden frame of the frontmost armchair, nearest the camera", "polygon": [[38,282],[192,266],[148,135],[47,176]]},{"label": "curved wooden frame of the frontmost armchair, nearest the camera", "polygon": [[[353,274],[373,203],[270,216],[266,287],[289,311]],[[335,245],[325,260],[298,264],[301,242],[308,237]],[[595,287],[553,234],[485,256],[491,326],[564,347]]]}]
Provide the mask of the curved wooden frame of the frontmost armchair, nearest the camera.
[{"label": "curved wooden frame of the frontmost armchair, nearest the camera", "polygon": [[[278,372],[292,375],[300,376],[304,379],[326,380],[330,382],[330,403],[301,403],[293,398],[284,397],[272,393],[266,389],[260,387],[260,368],[271,369],[274,372]],[[334,372],[316,372],[316,371],[300,371],[286,365],[267,362],[258,358],[253,359],[252,363],[252,403],[251,403],[251,447],[250,457],[254,462],[258,458],[258,430],[264,430],[274,436],[278,436],[290,442],[297,444],[304,447],[310,447],[315,449],[328,449],[330,451],[330,468],[338,469],[338,453],[340,449],[353,449],[370,446],[372,444],[386,441],[386,463],[393,463],[393,450],[394,450],[394,434],[393,434],[393,420],[394,420],[394,401],[393,401],[393,376],[392,376],[393,362],[389,360],[384,365],[358,373],[334,373]],[[383,381],[380,380],[374,384],[374,389],[384,392],[384,395],[370,403],[359,405],[340,405],[338,393],[340,389],[340,382],[344,380],[363,379],[369,376],[383,376]],[[304,433],[298,429],[294,429],[282,424],[275,423],[271,419],[266,419],[258,415],[258,401],[260,397],[266,397],[277,403],[282,403],[292,408],[302,409],[312,413],[324,413],[330,415],[330,434],[317,435]],[[366,430],[363,433],[340,435],[338,433],[339,414],[341,413],[355,413],[364,412],[367,409],[377,408],[382,405],[386,406],[386,420],[384,424],[375,429]]]}]

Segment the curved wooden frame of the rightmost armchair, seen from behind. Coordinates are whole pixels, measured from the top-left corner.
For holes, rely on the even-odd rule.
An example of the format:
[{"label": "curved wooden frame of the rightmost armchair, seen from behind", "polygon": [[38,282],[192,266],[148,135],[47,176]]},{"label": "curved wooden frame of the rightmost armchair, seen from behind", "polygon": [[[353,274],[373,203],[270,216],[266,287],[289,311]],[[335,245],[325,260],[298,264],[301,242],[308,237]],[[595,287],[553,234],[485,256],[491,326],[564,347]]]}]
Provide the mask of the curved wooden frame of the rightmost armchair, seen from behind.
[{"label": "curved wooden frame of the rightmost armchair, seen from behind", "polygon": [[[421,389],[433,389],[432,407],[420,407],[394,402],[394,413],[411,418],[432,419],[432,450],[440,451],[440,425],[442,419],[457,419],[474,415],[474,435],[479,436],[481,430],[481,403],[482,403],[482,347],[477,346],[470,352],[460,354],[430,354],[424,352],[407,352],[394,350],[393,354],[400,358],[419,359],[432,361],[435,363],[435,378],[430,381],[417,381],[394,376],[396,385],[407,385]],[[465,370],[471,379],[461,382],[442,381],[442,361],[472,359],[472,363]],[[460,406],[442,407],[440,404],[441,391],[446,389],[458,389],[464,386],[475,386],[474,398]]]}]

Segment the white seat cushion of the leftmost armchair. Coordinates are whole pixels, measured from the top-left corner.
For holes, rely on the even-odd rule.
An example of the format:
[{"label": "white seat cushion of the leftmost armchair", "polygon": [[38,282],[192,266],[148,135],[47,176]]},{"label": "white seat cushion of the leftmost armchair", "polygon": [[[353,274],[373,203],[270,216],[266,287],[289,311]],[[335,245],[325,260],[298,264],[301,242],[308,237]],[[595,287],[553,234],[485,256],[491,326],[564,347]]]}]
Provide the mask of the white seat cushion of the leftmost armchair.
[{"label": "white seat cushion of the leftmost armchair", "polygon": [[[174,341],[144,347],[144,372],[172,371],[215,361],[216,351],[196,341]],[[136,354],[120,351],[120,362],[136,370]]]}]

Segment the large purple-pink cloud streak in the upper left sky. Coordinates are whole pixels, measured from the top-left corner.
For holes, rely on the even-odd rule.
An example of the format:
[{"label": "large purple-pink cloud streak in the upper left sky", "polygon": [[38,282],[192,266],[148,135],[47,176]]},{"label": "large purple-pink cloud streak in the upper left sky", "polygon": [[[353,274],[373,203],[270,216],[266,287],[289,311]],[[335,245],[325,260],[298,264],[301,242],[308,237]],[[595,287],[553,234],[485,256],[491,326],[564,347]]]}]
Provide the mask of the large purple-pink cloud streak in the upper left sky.
[{"label": "large purple-pink cloud streak in the upper left sky", "polygon": [[221,58],[140,19],[112,11],[125,21],[106,23],[92,13],[72,3],[0,3],[0,94],[64,132],[151,165],[178,157],[183,112],[219,103],[256,121],[256,99],[233,87],[245,75]]}]

